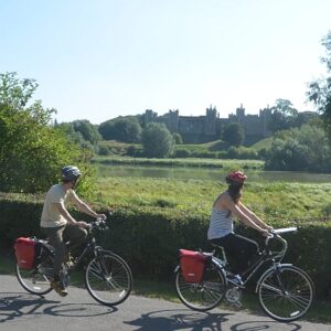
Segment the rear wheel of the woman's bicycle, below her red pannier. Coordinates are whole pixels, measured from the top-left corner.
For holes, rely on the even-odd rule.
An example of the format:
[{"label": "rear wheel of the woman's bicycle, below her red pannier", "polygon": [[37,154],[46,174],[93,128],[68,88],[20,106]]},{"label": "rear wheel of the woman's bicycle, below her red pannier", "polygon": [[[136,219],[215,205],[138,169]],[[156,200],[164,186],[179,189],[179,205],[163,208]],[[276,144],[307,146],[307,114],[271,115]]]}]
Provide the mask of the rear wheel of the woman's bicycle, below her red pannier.
[{"label": "rear wheel of the woman's bicycle, below her red pannier", "polygon": [[226,291],[225,276],[213,261],[205,267],[201,282],[185,281],[180,268],[175,273],[174,282],[180,300],[186,307],[197,311],[215,308]]}]

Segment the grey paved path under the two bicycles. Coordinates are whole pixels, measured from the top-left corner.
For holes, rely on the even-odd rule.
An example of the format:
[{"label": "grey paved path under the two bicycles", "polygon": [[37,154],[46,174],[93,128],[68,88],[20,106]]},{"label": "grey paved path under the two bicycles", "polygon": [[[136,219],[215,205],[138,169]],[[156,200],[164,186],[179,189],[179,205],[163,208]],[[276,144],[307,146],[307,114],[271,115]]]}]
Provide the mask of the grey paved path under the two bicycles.
[{"label": "grey paved path under the two bicycles", "polygon": [[303,321],[282,324],[264,316],[214,309],[194,312],[183,305],[130,296],[118,307],[102,306],[85,289],[70,287],[39,298],[26,293],[13,276],[0,276],[2,331],[330,331],[331,325]]}]

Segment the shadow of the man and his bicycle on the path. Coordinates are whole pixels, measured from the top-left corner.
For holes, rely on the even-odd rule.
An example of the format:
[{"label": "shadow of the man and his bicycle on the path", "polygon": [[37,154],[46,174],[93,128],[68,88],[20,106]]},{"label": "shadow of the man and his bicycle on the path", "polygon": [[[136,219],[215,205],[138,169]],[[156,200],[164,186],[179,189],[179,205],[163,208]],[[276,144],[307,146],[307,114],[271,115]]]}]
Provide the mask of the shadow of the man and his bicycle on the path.
[{"label": "shadow of the man and his bicycle on the path", "polygon": [[[45,297],[35,297],[22,292],[0,293],[0,323],[18,320],[32,319],[45,314],[66,317],[96,317],[117,311],[116,308],[98,303],[62,303],[58,300],[49,300]],[[89,309],[93,306],[93,309]]]}]

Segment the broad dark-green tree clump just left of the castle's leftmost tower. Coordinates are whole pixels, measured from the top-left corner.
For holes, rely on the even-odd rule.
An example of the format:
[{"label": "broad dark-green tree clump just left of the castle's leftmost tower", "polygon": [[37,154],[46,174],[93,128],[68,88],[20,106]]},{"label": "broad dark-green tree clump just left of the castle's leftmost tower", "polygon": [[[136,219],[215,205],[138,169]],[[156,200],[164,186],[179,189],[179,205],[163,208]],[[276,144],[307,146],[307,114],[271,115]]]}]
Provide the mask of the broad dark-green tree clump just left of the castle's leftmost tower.
[{"label": "broad dark-green tree clump just left of the castle's leftmost tower", "polygon": [[118,140],[124,142],[140,141],[141,127],[134,116],[117,117],[99,125],[99,132],[104,140]]}]

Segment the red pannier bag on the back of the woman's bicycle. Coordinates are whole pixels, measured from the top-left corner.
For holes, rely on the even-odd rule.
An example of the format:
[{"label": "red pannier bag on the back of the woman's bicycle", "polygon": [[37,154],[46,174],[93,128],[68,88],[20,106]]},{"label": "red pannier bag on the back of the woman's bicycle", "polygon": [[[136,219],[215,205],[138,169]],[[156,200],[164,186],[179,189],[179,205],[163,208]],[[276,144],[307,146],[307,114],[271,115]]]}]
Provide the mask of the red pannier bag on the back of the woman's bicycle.
[{"label": "red pannier bag on the back of the woman's bicycle", "polygon": [[200,282],[209,256],[205,256],[202,252],[188,249],[180,249],[179,253],[180,266],[185,281]]}]

